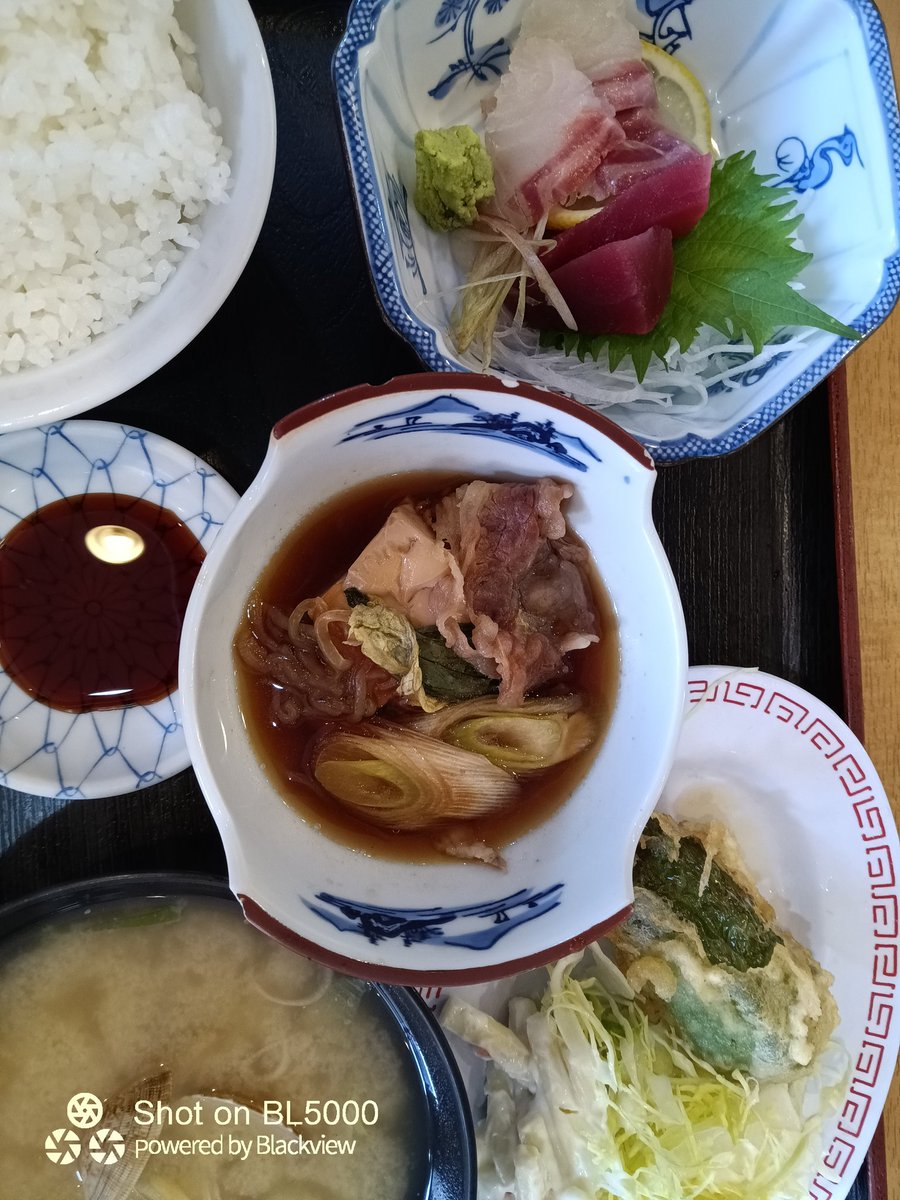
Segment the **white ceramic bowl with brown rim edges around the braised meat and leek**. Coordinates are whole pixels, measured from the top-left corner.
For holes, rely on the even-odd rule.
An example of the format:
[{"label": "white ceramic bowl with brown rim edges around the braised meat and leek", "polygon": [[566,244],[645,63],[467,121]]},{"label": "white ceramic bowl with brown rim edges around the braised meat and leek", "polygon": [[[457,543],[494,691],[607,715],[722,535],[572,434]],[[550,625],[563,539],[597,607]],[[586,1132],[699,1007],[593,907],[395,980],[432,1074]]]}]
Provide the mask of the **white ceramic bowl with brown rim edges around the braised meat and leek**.
[{"label": "white ceramic bowl with brown rim edges around the braised meat and leek", "polygon": [[[618,628],[610,728],[587,774],[503,847],[506,870],[370,857],[288,805],[241,714],[233,638],[290,532],[344,490],[396,473],[552,475]],[[217,539],[185,617],[180,694],[191,760],[248,918],[295,948],[394,983],[469,983],[546,962],[631,902],[637,838],[665,782],[685,702],[686,638],[650,516],[655,469],[605,418],[524,384],[420,374],[330,396],[281,421]]]}]

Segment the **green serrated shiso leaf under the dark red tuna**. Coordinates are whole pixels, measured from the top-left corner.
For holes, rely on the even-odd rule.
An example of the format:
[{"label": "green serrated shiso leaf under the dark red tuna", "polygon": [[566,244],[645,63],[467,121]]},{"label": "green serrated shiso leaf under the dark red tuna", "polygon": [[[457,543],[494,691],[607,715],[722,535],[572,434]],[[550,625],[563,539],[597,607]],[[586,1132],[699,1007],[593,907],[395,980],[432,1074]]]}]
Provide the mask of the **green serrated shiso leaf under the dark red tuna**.
[{"label": "green serrated shiso leaf under the dark red tuna", "polygon": [[733,341],[748,338],[756,354],[785,325],[859,338],[856,329],[791,287],[812,260],[793,242],[803,216],[790,188],[770,187],[772,175],[756,174],[754,158],[740,151],[713,167],[709,208],[674,242],[672,294],[649,334],[547,332],[541,346],[577,354],[582,361],[606,349],[612,371],[630,358],[640,382],[654,355],[665,361],[673,341],[686,350],[701,325]]}]

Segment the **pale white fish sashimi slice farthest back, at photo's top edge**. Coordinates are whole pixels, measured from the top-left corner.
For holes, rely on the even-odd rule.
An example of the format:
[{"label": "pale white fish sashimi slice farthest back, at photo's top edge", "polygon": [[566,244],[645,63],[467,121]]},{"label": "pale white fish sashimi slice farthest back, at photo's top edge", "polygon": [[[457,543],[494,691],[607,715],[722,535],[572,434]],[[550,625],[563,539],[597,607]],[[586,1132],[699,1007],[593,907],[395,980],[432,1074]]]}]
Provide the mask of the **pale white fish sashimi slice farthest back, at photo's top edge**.
[{"label": "pale white fish sashimi slice farthest back, at photo's top edge", "polygon": [[520,44],[533,37],[557,42],[590,80],[619,74],[641,61],[641,37],[629,20],[629,0],[532,0],[522,16]]}]

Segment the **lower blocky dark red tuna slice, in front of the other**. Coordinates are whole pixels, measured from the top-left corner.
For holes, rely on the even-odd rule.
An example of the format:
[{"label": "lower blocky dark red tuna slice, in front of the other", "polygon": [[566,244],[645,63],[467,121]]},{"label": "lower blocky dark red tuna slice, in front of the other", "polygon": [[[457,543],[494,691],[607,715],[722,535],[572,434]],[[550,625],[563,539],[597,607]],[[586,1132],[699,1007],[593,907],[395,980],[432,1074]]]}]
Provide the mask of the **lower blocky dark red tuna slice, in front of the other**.
[{"label": "lower blocky dark red tuna slice, in front of the other", "polygon": [[[672,290],[672,233],[654,226],[635,238],[610,241],[552,272],[582,334],[648,334]],[[526,308],[538,329],[559,329],[548,305]]]}]

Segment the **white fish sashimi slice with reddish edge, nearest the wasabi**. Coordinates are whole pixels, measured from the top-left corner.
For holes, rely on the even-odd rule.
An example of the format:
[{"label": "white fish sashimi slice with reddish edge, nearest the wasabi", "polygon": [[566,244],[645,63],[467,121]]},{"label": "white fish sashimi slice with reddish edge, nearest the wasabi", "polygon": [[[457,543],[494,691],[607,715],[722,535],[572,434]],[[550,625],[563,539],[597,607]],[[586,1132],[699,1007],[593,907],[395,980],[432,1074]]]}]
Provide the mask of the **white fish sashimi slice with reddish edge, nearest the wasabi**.
[{"label": "white fish sashimi slice with reddish edge, nearest the wasabi", "polygon": [[520,41],[485,122],[497,211],[520,229],[580,194],[624,140],[612,106],[554,41]]}]

